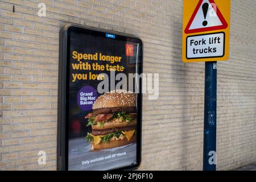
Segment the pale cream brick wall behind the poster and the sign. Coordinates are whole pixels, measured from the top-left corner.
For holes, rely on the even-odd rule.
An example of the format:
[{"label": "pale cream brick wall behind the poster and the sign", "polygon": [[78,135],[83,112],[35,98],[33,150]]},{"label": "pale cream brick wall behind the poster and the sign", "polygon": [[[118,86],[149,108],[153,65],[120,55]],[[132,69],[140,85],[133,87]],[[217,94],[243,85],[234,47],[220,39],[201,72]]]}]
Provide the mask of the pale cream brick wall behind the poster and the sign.
[{"label": "pale cream brick wall behind the poster and the sign", "polygon": [[[232,0],[230,59],[218,64],[218,170],[256,161],[255,6]],[[69,22],[141,37],[144,72],[160,73],[159,99],[144,97],[140,169],[200,170],[204,63],[181,61],[182,9],[182,0],[0,0],[0,168],[56,169],[59,30]]]}]

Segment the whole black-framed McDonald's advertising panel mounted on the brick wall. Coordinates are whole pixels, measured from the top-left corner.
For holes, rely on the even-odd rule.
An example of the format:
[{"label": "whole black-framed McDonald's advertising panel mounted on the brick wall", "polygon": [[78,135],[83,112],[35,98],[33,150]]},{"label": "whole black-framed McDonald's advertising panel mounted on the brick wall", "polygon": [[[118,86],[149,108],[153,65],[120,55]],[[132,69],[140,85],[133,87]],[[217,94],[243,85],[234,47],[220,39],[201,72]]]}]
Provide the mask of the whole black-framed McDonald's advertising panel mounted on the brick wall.
[{"label": "whole black-framed McDonald's advertising panel mounted on the brick wall", "polygon": [[75,25],[60,31],[57,169],[141,162],[142,42]]}]

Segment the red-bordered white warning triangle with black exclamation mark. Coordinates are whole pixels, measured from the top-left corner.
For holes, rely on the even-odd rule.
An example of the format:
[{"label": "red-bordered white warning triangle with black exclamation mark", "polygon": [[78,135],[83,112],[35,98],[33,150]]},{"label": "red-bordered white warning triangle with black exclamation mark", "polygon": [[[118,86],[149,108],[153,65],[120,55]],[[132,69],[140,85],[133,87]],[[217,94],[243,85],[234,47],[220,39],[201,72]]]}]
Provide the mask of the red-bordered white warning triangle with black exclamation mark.
[{"label": "red-bordered white warning triangle with black exclamation mark", "polygon": [[192,34],[196,32],[222,30],[227,27],[228,23],[226,23],[226,20],[213,0],[199,0],[184,32],[185,34]]}]

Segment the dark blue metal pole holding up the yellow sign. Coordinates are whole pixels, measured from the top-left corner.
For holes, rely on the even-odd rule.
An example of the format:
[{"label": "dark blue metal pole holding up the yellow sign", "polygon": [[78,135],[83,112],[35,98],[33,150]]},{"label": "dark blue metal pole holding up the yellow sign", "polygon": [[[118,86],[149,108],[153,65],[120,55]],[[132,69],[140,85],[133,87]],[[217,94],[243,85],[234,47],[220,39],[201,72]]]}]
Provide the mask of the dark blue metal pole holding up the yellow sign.
[{"label": "dark blue metal pole holding up the yellow sign", "polygon": [[203,170],[216,171],[217,62],[205,62]]}]

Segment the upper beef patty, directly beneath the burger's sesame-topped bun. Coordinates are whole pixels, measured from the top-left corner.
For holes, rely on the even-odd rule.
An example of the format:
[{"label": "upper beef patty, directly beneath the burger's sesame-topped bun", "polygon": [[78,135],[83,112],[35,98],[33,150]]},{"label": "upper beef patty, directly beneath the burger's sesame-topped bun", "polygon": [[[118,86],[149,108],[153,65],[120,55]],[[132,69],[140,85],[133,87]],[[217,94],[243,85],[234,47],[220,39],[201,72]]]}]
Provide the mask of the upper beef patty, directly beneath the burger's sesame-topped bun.
[{"label": "upper beef patty, directly beneath the burger's sesame-topped bun", "polygon": [[127,113],[137,113],[136,107],[107,107],[93,110],[93,114],[115,113],[126,111]]}]

